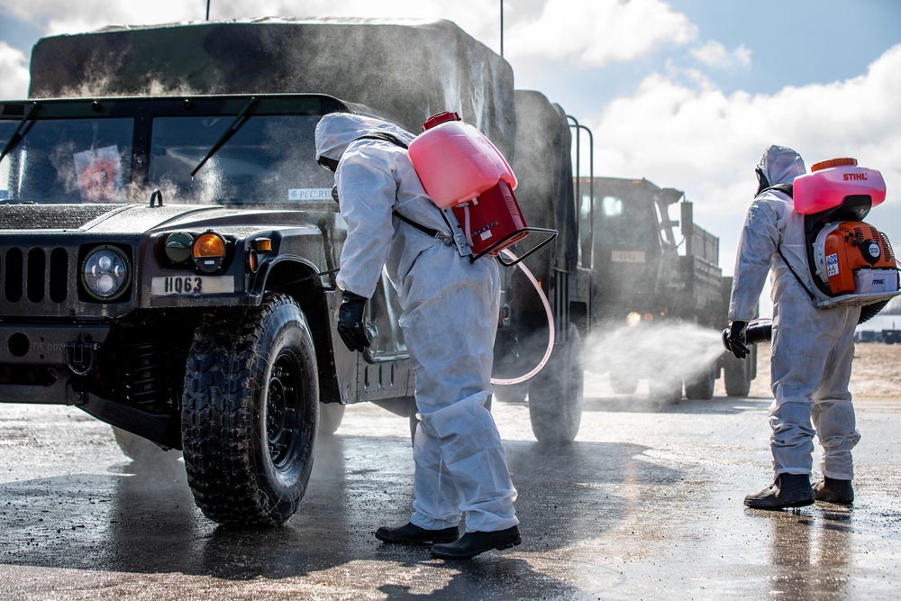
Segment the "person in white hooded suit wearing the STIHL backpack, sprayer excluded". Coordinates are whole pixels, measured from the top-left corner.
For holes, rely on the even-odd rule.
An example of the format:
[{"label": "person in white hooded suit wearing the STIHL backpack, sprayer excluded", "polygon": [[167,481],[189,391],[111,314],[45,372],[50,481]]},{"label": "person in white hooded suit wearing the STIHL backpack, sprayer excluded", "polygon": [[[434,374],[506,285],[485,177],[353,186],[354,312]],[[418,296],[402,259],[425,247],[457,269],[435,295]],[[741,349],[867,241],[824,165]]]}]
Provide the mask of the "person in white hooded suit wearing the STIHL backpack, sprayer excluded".
[{"label": "person in white hooded suit wearing the STIHL backpack, sprayer excluded", "polygon": [[[770,371],[775,399],[769,425],[775,479],[744,497],[745,505],[758,509],[801,507],[815,500],[851,505],[854,500],[851,449],[860,433],[848,382],[860,306],[817,308],[805,291],[816,287],[807,267],[804,215],[796,213],[790,193],[776,187],[804,173],[804,160],[795,150],[770,146],[763,153],[757,167],[760,187],[735,260],[727,338],[740,359],[748,353],[742,332],[757,314],[772,269]],[[811,487],[814,433],[823,447],[823,479]]]}]

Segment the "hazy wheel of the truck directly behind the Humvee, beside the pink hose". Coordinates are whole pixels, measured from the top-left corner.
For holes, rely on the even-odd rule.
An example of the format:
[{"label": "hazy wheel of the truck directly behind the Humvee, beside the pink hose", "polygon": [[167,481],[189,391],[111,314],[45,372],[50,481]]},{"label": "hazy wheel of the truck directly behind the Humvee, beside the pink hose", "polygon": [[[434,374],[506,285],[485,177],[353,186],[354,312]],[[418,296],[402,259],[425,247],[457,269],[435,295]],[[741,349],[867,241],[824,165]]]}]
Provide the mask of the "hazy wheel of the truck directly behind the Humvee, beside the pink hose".
[{"label": "hazy wheel of the truck directly behind the Humvee, beside the pink hose", "polygon": [[529,387],[529,417],[538,442],[573,442],[582,422],[582,341],[578,329],[569,324],[569,341],[556,346],[551,359],[532,378]]}]

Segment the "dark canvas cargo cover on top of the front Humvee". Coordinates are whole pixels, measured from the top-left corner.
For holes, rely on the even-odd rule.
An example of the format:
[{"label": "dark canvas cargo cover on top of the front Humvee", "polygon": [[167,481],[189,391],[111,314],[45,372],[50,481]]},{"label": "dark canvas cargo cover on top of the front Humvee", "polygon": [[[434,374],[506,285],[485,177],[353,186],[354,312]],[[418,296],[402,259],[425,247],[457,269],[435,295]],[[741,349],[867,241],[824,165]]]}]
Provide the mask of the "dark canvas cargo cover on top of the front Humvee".
[{"label": "dark canvas cargo cover on top of the front Humvee", "polygon": [[42,38],[29,96],[310,92],[414,133],[451,110],[512,159],[513,79],[505,59],[450,21],[265,18]]}]

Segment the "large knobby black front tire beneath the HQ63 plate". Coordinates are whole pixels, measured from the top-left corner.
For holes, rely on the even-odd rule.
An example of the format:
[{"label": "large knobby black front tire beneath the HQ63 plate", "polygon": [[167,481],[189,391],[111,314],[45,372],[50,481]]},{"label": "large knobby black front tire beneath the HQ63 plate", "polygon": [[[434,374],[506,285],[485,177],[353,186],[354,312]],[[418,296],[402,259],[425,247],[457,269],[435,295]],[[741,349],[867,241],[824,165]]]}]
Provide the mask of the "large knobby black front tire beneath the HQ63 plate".
[{"label": "large knobby black front tire beneath the HQ63 plate", "polygon": [[316,373],[309,325],[289,296],[201,320],[181,432],[187,481],[207,517],[274,526],[296,512],[313,468]]}]

